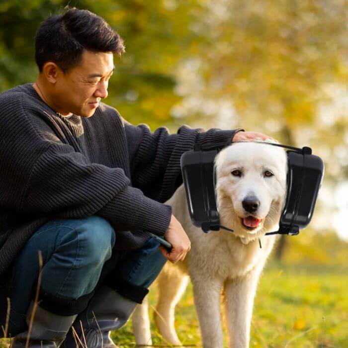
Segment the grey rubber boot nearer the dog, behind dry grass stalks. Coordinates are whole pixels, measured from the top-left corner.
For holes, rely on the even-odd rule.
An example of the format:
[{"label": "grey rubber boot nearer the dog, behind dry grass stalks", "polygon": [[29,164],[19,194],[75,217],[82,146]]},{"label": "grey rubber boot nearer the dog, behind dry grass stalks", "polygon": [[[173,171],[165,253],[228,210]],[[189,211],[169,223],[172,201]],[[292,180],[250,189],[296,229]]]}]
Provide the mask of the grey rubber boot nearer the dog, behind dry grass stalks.
[{"label": "grey rubber boot nearer the dog, behind dry grass stalks", "polygon": [[[110,287],[101,287],[73,324],[81,342],[71,329],[63,347],[76,348],[76,342],[78,342],[79,347],[87,345],[88,348],[116,348],[117,346],[110,338],[110,331],[123,327],[134,312],[136,305],[136,302],[121,296]],[[82,332],[81,326],[84,332]]]}]

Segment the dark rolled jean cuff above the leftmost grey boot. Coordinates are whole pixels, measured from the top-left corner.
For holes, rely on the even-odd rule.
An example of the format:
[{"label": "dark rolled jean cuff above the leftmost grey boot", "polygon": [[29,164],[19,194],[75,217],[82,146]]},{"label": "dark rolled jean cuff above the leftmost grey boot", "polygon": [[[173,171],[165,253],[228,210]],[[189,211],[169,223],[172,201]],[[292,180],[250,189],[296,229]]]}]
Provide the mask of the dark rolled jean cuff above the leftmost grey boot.
[{"label": "dark rolled jean cuff above the leftmost grey boot", "polygon": [[83,295],[77,299],[69,299],[54,297],[40,290],[38,304],[41,308],[53,314],[70,316],[81,313],[87,307],[87,304],[93,294],[94,290],[89,294]]}]

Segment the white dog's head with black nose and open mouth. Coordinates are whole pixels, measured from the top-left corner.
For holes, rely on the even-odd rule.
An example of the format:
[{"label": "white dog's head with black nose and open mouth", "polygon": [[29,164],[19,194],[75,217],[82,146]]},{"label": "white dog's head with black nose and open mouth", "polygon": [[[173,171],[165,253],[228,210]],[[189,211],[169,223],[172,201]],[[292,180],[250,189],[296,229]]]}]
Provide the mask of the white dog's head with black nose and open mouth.
[{"label": "white dog's head with black nose and open mouth", "polygon": [[242,142],[215,160],[220,222],[247,244],[278,227],[286,197],[283,148]]}]

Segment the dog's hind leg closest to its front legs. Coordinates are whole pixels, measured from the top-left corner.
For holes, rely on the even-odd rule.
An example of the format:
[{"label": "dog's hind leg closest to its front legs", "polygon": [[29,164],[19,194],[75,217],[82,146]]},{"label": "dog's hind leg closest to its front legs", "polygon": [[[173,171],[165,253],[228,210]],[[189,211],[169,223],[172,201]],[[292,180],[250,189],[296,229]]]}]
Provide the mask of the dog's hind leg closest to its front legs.
[{"label": "dog's hind leg closest to its front legs", "polygon": [[172,345],[181,345],[174,327],[174,311],[187,282],[188,275],[170,264],[165,266],[158,277],[159,299],[154,319],[163,338]]}]

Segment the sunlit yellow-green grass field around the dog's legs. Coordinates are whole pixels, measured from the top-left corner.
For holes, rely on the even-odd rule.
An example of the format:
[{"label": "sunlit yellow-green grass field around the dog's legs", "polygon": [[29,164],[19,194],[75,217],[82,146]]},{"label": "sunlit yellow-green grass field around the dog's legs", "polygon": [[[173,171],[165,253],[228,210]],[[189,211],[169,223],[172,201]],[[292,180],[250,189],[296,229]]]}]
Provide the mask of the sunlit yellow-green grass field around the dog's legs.
[{"label": "sunlit yellow-green grass field around the dog's legs", "polygon": [[[291,238],[285,260],[270,260],[261,276],[250,347],[348,348],[347,247],[333,236]],[[150,295],[154,306],[156,286]],[[176,330],[185,346],[201,347],[191,286],[177,306]],[[166,345],[154,327],[152,335],[154,345]],[[113,338],[135,347],[131,323]]]}]

